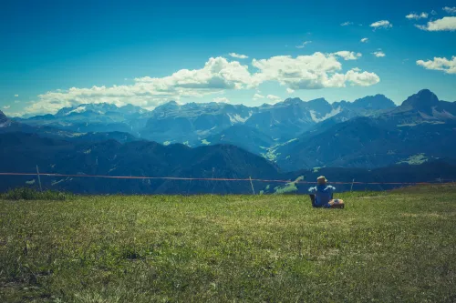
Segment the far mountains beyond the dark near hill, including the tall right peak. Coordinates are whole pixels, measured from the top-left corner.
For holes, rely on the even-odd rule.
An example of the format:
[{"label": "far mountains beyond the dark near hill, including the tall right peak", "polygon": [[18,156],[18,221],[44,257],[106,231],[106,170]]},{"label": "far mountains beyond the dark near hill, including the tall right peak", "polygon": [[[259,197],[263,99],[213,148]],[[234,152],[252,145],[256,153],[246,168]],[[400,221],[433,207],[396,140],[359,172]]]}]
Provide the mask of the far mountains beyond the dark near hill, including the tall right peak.
[{"label": "far mountains beyond the dark near hill, including the tall right peak", "polygon": [[[275,105],[171,101],[152,111],[107,104],[62,108],[56,115],[11,120],[0,115],[0,133],[37,133],[72,142],[139,139],[165,146],[229,144],[285,171],[314,167],[388,167],[451,157],[456,103],[428,89],[400,106],[386,96],[329,104],[324,98],[287,98]],[[431,144],[429,144],[431,143]]]}]

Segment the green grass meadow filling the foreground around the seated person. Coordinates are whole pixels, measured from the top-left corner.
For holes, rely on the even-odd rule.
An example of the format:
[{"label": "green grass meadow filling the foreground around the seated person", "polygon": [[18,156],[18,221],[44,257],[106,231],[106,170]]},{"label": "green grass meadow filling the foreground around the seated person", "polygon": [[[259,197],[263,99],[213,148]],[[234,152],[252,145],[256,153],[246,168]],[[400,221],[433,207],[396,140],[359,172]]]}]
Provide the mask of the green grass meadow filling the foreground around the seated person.
[{"label": "green grass meadow filling the foreground around the seated person", "polygon": [[0,302],[454,302],[456,187],[0,200]]}]

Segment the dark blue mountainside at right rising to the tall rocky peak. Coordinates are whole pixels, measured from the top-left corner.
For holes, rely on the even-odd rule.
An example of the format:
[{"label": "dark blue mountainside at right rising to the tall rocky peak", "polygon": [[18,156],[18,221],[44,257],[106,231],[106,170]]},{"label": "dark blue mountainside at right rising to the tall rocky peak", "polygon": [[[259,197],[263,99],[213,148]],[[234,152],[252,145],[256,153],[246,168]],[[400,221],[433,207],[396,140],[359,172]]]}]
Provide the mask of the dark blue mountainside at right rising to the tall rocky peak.
[{"label": "dark blue mountainside at right rising to the tall rocky peak", "polygon": [[285,170],[311,167],[387,167],[413,157],[452,157],[456,103],[424,89],[401,106],[373,116],[332,121],[276,150]]}]

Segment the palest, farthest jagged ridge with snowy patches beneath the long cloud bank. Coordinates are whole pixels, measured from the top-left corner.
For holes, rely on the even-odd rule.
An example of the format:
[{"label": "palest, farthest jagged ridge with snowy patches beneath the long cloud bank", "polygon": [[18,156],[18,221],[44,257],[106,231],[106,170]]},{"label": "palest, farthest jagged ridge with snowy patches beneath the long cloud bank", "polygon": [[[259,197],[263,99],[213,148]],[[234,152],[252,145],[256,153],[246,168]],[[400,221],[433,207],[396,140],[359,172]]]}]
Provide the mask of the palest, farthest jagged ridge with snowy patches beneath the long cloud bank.
[{"label": "palest, farthest jagged ridge with snowy patches beneath the long cloud bank", "polygon": [[65,107],[56,115],[16,120],[30,126],[51,126],[71,132],[127,132],[166,144],[201,146],[209,141],[208,137],[235,125],[256,128],[275,141],[286,142],[333,116],[347,120],[393,106],[383,95],[333,104],[324,98],[306,102],[288,98],[275,105],[253,107],[214,102],[179,105],[171,101],[152,111],[138,106],[100,103]]}]

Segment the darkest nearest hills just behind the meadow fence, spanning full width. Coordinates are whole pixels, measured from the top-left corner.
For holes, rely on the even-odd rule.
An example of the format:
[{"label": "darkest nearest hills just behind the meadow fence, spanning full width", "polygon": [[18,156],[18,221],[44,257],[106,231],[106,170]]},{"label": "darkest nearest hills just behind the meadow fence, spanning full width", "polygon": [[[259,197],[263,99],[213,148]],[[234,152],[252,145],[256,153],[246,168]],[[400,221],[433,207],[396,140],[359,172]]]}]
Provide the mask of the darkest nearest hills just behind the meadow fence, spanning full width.
[{"label": "darkest nearest hills just behind the meadow fence, spanning full width", "polygon": [[[184,145],[162,146],[148,141],[120,144],[70,142],[24,133],[0,134],[0,172],[77,175],[41,177],[43,187],[74,193],[92,194],[250,194],[248,181],[215,181],[211,178],[293,180],[315,182],[324,174],[333,182],[440,182],[455,180],[456,166],[447,160],[428,161],[421,165],[400,164],[378,169],[321,168],[283,173],[264,157],[237,146],[216,145],[191,148]],[[422,159],[418,159],[421,160]],[[419,161],[420,162],[420,161]],[[453,163],[453,164],[451,164]],[[84,176],[152,177],[119,179]],[[80,176],[80,177],[78,177]],[[153,177],[159,177],[154,179]],[[173,180],[161,177],[208,178],[208,180]],[[0,176],[0,191],[13,187],[37,187],[36,176]],[[394,186],[368,185],[363,188],[383,190]],[[277,188],[276,188],[277,187]],[[256,193],[280,192],[283,182],[254,181]],[[292,192],[306,194],[308,184],[297,184]],[[349,185],[337,186],[348,190]]]}]

